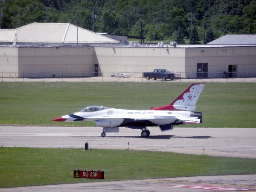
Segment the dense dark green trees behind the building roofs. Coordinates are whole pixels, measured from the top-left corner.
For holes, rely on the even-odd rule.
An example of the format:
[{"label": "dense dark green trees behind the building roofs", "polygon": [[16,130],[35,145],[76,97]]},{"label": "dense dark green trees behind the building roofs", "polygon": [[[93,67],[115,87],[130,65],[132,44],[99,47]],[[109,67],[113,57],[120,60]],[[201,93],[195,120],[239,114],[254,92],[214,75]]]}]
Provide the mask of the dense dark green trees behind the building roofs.
[{"label": "dense dark green trees behind the building roofs", "polygon": [[256,33],[256,0],[0,0],[0,16],[2,29],[32,22],[72,23],[178,44]]}]

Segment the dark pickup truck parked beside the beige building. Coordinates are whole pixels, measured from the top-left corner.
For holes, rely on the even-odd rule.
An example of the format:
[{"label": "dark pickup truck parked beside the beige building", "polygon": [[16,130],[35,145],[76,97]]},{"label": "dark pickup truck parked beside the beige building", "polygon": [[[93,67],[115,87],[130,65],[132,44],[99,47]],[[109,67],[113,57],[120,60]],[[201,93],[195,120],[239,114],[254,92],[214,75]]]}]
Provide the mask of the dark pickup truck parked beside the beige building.
[{"label": "dark pickup truck parked beside the beige building", "polygon": [[151,78],[156,79],[162,79],[162,80],[173,80],[174,79],[174,73],[169,72],[166,69],[155,69],[153,72],[145,72],[143,73],[143,77],[146,78],[146,80],[149,80]]}]

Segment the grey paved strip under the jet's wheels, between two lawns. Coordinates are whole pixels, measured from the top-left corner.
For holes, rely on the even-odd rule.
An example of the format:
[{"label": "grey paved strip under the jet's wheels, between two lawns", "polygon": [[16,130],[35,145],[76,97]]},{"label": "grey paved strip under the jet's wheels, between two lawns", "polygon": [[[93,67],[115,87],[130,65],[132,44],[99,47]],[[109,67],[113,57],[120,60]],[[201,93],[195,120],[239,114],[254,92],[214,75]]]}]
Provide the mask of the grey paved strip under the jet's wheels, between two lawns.
[{"label": "grey paved strip under the jet's wheels, between two lawns", "polygon": [[0,146],[42,148],[129,149],[256,158],[256,129],[182,128],[161,132],[149,128],[148,138],[141,130],[120,128],[119,133],[101,137],[99,127],[0,126]]}]

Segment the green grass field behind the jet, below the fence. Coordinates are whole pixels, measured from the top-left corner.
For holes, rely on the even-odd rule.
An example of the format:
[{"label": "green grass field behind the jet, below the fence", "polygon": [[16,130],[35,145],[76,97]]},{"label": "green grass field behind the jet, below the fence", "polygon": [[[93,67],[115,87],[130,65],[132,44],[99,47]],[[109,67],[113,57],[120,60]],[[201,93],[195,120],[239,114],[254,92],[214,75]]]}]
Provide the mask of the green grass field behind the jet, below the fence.
[{"label": "green grass field behind the jet, below the fence", "polygon": [[[189,83],[1,82],[0,124],[94,126],[50,120],[89,105],[149,109],[172,102]],[[256,83],[207,83],[197,103],[200,127],[256,127]]]}]

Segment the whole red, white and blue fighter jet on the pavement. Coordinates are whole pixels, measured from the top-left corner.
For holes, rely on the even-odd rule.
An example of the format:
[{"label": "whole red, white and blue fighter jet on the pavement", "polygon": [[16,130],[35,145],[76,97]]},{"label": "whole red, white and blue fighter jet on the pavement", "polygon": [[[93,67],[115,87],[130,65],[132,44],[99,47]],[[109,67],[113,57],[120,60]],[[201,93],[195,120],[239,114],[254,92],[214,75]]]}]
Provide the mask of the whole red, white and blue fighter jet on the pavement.
[{"label": "whole red, white and blue fighter jet on the pavement", "polygon": [[141,136],[148,137],[147,127],[158,126],[161,131],[172,130],[174,125],[202,123],[202,113],[196,110],[196,102],[205,84],[191,84],[171,104],[150,110],[125,110],[104,106],[88,106],[79,112],[54,119],[57,122],[94,121],[106,132],[119,132],[119,127],[141,129]]}]

